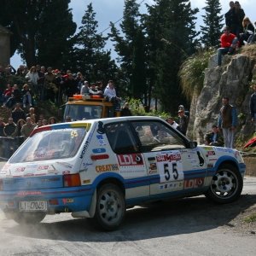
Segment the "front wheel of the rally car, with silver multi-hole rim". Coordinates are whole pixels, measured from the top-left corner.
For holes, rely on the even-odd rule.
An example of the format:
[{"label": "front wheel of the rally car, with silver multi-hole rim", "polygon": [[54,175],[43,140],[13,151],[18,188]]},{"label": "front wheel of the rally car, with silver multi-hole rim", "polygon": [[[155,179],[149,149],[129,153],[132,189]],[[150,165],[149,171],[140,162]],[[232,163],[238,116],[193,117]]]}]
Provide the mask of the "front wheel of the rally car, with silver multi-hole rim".
[{"label": "front wheel of the rally car, with silver multi-hole rim", "polygon": [[220,166],[218,172],[212,177],[212,184],[206,196],[219,204],[226,204],[236,201],[243,187],[241,173],[235,166],[226,164]]}]

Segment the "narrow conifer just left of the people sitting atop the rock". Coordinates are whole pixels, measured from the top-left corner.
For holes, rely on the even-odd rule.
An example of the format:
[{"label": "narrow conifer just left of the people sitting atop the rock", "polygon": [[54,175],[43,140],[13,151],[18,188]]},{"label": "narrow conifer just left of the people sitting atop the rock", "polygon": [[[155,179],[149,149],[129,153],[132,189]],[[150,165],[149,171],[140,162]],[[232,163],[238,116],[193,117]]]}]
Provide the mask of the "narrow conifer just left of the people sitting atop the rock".
[{"label": "narrow conifer just left of the people sitting atop the rock", "polygon": [[221,6],[219,0],[207,0],[206,15],[202,15],[205,26],[201,26],[201,43],[206,48],[215,47],[219,44],[221,29],[224,26],[223,15],[220,15]]}]

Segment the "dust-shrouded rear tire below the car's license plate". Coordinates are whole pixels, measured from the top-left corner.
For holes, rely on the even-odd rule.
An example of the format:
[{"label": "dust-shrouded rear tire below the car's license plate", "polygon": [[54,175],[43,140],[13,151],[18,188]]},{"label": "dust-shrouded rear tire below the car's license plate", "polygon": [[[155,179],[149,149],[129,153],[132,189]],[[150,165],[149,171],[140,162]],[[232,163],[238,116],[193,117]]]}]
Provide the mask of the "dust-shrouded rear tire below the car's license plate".
[{"label": "dust-shrouded rear tire below the car's license plate", "polygon": [[6,216],[14,219],[17,224],[38,224],[44,219],[46,212],[6,212]]}]

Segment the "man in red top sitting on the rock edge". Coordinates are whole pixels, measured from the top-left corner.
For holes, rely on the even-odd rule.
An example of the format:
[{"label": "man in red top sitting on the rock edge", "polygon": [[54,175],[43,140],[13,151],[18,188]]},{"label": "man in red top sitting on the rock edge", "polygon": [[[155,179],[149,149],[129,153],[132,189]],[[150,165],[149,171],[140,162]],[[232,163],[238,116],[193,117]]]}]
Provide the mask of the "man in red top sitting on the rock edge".
[{"label": "man in red top sitting on the rock edge", "polygon": [[220,37],[220,48],[217,50],[218,66],[221,66],[222,55],[232,54],[237,46],[236,35],[230,33],[230,27],[224,27],[224,33]]}]

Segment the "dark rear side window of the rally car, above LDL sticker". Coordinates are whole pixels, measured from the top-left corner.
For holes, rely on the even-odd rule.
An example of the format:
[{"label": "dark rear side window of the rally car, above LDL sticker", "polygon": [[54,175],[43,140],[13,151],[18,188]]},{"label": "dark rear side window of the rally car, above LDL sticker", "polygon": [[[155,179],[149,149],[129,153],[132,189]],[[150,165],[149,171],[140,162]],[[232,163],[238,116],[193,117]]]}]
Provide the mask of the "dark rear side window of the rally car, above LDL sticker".
[{"label": "dark rear side window of the rally car, above LDL sticker", "polygon": [[136,139],[128,123],[120,122],[104,125],[108,142],[116,154],[137,153]]}]

